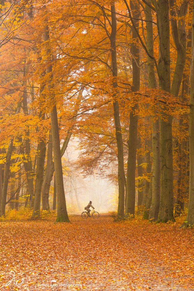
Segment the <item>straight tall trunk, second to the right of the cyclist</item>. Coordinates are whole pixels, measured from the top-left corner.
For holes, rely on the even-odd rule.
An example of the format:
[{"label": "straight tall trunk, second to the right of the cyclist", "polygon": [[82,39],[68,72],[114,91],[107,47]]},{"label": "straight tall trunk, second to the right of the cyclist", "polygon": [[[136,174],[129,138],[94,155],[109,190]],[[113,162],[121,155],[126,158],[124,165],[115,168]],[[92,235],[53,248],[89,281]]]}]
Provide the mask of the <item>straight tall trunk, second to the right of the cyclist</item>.
[{"label": "straight tall trunk, second to the right of the cyclist", "polygon": [[[130,7],[132,10],[133,17],[139,19],[139,8],[134,2],[130,1]],[[134,20],[136,29],[139,29],[139,21]],[[133,86],[132,90],[134,92],[139,91],[140,87],[140,68],[139,68],[139,46],[138,46],[138,36],[134,27],[132,28],[132,38],[133,42],[131,44],[131,53],[134,60],[132,61],[133,68]],[[135,171],[136,171],[136,150],[137,150],[137,125],[138,116],[136,110],[138,109],[138,104],[136,103],[132,107],[130,112],[129,120],[129,141],[128,141],[128,161],[127,161],[127,202],[125,208],[125,215],[135,214]]]}]

